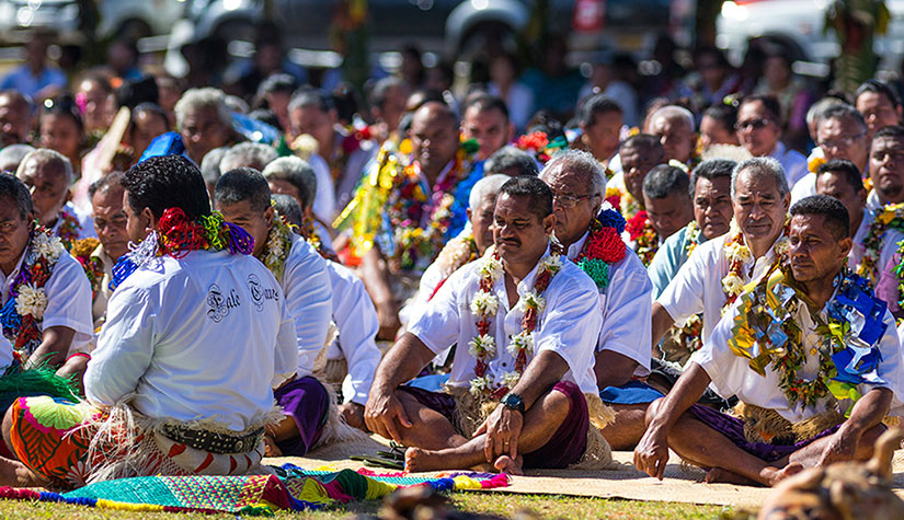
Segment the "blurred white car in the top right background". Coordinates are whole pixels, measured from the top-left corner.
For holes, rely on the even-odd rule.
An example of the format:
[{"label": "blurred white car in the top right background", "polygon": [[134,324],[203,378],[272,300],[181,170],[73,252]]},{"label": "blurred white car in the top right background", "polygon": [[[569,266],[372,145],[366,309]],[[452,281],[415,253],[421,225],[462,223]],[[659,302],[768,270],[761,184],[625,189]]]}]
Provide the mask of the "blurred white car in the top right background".
[{"label": "blurred white car in the top right background", "polygon": [[[716,21],[716,45],[739,65],[751,39],[762,38],[780,46],[796,70],[813,76],[828,72],[827,63],[840,46],[832,31],[824,31],[825,12],[832,0],[728,0]],[[892,20],[889,31],[874,39],[880,68],[897,70],[904,56],[904,0],[885,0]]]}]

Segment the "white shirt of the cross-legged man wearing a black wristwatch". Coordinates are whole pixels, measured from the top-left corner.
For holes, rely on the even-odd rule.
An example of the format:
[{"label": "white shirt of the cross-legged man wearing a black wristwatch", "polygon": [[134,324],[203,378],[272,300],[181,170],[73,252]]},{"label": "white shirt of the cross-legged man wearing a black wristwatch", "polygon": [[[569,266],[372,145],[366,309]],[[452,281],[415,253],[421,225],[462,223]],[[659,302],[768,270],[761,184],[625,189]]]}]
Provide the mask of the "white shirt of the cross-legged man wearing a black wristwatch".
[{"label": "white shirt of the cross-legged man wearing a black wristwatch", "polygon": [[[477,336],[477,323],[470,305],[480,285],[478,269],[481,265],[481,261],[477,261],[456,270],[427,303],[424,313],[409,327],[409,332],[434,354],[458,344],[449,373],[450,386],[467,388],[477,377],[477,359],[468,351],[468,343]],[[518,284],[518,301],[524,293],[533,290],[537,271],[538,266],[534,266]],[[500,384],[503,374],[515,370],[515,358],[506,347],[510,336],[522,333],[524,312],[517,309],[517,304],[508,307],[504,277],[493,285],[493,293],[499,299],[499,310],[491,319],[490,334],[495,338],[496,355],[487,365],[488,374],[492,374],[495,384]],[[533,332],[534,356],[543,350],[557,353],[569,367],[562,380],[574,382],[584,393],[596,394],[594,347],[603,324],[596,285],[576,265],[562,258],[562,268],[552,277],[543,299],[546,307],[539,313]],[[528,358],[528,362],[534,356]]]}]

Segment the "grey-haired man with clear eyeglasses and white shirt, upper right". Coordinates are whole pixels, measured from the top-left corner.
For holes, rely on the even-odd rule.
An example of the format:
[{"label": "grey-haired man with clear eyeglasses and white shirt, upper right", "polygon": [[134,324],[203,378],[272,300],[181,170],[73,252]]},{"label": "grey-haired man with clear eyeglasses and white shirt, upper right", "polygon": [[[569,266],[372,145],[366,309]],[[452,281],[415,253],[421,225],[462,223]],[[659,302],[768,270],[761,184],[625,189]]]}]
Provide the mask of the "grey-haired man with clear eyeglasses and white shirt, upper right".
[{"label": "grey-haired man with clear eyeglasses and white shirt, upper right", "polygon": [[[859,172],[867,169],[869,146],[867,123],[863,116],[850,105],[840,104],[825,108],[816,125],[816,143],[825,162],[846,160],[854,163]],[[792,203],[816,195],[816,172],[801,178],[791,189]],[[855,228],[856,229],[856,228]]]}]

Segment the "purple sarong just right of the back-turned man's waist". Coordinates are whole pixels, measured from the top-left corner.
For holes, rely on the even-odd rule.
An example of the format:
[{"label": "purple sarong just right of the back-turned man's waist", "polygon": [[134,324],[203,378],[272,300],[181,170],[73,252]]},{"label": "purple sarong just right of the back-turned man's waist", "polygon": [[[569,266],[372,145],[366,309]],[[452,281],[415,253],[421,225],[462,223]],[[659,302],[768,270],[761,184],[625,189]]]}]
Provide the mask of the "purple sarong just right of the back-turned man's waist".
[{"label": "purple sarong just right of the back-turned man's waist", "polygon": [[323,432],[330,409],[330,394],[320,381],[307,375],[274,390],[273,396],[283,407],[283,413],[291,417],[298,427],[298,437],[277,441],[276,447],[284,455],[301,457]]}]

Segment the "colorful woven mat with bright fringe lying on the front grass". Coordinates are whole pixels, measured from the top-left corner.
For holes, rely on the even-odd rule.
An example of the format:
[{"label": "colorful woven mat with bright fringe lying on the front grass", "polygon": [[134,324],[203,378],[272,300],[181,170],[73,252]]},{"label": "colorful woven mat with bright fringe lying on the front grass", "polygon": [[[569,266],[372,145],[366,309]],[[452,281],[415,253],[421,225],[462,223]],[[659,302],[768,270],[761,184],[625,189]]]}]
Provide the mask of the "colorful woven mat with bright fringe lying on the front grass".
[{"label": "colorful woven mat with bright fringe lying on the front grass", "polygon": [[489,489],[508,485],[491,473],[407,473],[369,470],[308,471],[293,464],[276,475],[144,476],[99,482],[66,494],[0,487],[0,498],[73,504],[103,509],[168,512],[272,515],[277,510],[320,509],[353,500],[377,499],[399,487],[431,486],[439,492]]}]

